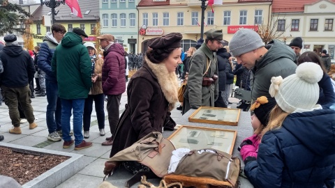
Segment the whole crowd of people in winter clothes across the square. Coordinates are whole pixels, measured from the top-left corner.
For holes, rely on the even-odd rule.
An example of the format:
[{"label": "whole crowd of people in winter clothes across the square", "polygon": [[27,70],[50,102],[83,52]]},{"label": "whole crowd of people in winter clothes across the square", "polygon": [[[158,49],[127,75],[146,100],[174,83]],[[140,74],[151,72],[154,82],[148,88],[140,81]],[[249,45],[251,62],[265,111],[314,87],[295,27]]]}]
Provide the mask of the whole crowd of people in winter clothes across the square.
[{"label": "whole crowd of people in winter clothes across the square", "polygon": [[[295,38],[289,46],[279,40],[265,45],[251,29],[237,31],[229,46],[223,46],[222,30],[211,29],[204,34],[206,38],[199,41],[198,49],[188,49],[184,58],[181,33],[153,38],[145,54],[128,56],[114,42],[114,36],[103,34],[98,37],[103,49],[103,56],[99,56],[93,43],[83,43],[88,36],[82,29],[66,33],[64,26],[53,24],[35,55],[35,78],[48,102],[47,139],[63,139],[63,148],[91,147],[92,143],[84,139],[90,134],[92,104],[95,102],[99,134],[104,136],[105,96],[110,136],[102,145],[112,146],[110,157],[151,132],[173,130],[176,123],[170,112],[178,102],[176,70],[183,64],[184,70],[179,72],[187,82],[183,114],[200,107],[228,107],[234,75],[239,75],[237,86],[251,91],[254,132],[237,143],[251,184],[334,187],[335,87],[327,74],[327,51],[322,50],[321,58],[315,52],[300,54],[301,38]],[[1,93],[13,124],[9,132],[21,134],[19,109],[29,129],[37,127],[31,107],[34,88],[29,88],[36,66],[31,54],[17,45],[16,36],[10,34],[4,40],[6,46],[0,52]],[[233,65],[232,56],[237,65]],[[119,118],[127,69],[138,70],[128,83],[126,109]],[[137,162],[128,162],[127,166],[142,168]],[[111,166],[105,166],[104,173],[110,174],[111,170]]]}]

